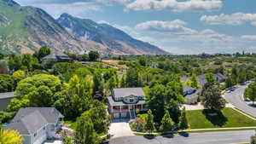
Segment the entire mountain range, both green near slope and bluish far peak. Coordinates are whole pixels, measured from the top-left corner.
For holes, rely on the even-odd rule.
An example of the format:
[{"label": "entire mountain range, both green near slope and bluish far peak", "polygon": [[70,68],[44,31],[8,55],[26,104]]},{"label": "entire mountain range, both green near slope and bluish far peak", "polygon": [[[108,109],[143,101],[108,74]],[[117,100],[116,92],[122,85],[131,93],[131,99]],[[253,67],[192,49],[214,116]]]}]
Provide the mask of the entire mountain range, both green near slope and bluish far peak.
[{"label": "entire mountain range, both green near slope and bluish far peak", "polygon": [[[78,20],[79,23],[74,25],[73,20]],[[103,55],[165,53],[112,26],[97,24],[92,20],[79,20],[68,14],[62,14],[60,19],[55,20],[42,9],[20,6],[13,0],[0,0],[0,51],[33,53],[41,46],[73,53],[97,50]]]}]

